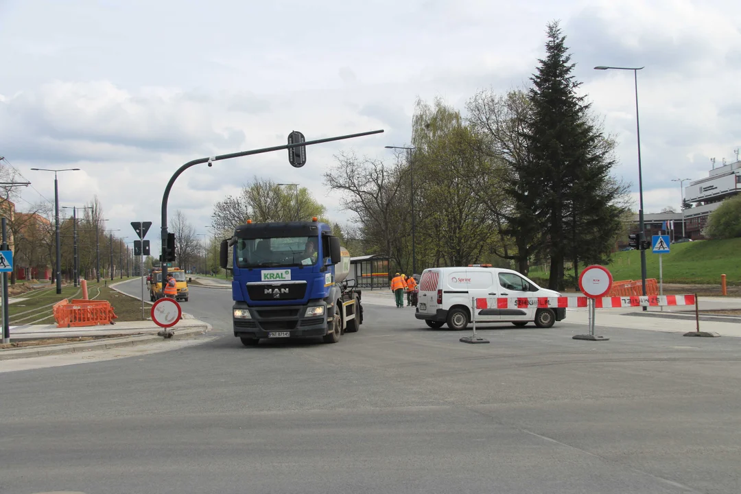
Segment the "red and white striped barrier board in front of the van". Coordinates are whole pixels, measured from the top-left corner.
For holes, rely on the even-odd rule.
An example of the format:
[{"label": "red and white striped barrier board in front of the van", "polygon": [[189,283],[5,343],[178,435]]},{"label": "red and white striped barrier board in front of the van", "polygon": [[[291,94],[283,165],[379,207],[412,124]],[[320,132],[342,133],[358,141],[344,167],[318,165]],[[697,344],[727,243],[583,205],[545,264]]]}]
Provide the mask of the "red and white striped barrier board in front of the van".
[{"label": "red and white striped barrier board in front of the van", "polygon": [[[601,297],[594,299],[597,309],[619,307],[665,307],[694,305],[694,295]],[[587,307],[587,297],[476,298],[476,309],[522,309],[525,307]]]}]

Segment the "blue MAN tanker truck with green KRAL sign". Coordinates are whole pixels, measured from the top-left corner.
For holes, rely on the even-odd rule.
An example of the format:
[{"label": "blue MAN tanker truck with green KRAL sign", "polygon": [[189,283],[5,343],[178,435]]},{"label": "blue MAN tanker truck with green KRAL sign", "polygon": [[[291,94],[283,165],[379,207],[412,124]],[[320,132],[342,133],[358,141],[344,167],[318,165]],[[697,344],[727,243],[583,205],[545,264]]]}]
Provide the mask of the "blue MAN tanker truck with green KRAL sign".
[{"label": "blue MAN tanker truck with green KRAL sign", "polygon": [[361,292],[345,281],[350,253],[328,224],[247,220],[222,241],[222,267],[230,255],[234,336],[245,346],[313,336],[336,343],[360,329]]}]

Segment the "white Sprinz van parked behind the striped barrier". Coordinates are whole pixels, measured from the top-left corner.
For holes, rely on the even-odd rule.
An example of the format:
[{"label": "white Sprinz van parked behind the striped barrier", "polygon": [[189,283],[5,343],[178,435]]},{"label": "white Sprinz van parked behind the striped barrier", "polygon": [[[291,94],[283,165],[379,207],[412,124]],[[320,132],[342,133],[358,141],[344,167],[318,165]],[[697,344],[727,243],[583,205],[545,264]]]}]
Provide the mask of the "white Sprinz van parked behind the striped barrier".
[{"label": "white Sprinz van parked behind the striped barrier", "polygon": [[[465,330],[471,321],[471,298],[559,297],[558,292],[539,287],[513,270],[498,267],[434,267],[422,271],[416,313],[429,327],[448,324],[451,330]],[[566,317],[566,309],[481,309],[476,323],[511,322],[525,326],[551,327]]]}]

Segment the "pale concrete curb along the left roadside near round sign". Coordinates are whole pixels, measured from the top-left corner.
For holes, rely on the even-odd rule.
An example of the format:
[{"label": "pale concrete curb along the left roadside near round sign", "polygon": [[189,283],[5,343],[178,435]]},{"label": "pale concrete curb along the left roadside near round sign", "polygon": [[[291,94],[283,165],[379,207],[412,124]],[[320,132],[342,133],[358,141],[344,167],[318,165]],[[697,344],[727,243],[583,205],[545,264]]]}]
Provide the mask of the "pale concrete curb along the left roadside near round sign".
[{"label": "pale concrete curb along the left roadside near round sign", "polygon": [[[173,337],[170,339],[180,340],[187,338],[196,338],[199,335],[208,333],[213,327],[204,322],[200,327],[189,327],[185,330],[175,330]],[[62,355],[63,353],[80,353],[90,352],[93,350],[107,350],[109,348],[119,347],[136,347],[142,344],[156,343],[165,341],[162,336],[157,335],[136,335],[123,336],[121,338],[103,338],[95,341],[81,341],[79,343],[61,343],[54,345],[41,345],[39,347],[27,348],[5,348],[0,350],[0,361],[13,360],[16,358],[43,357],[50,355]]]}]

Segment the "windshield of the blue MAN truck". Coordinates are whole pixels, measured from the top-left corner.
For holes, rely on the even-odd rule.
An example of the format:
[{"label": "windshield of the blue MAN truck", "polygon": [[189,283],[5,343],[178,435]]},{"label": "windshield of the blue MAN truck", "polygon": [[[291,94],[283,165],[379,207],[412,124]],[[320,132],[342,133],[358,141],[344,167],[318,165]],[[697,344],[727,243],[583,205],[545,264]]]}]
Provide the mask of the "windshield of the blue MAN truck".
[{"label": "windshield of the blue MAN truck", "polygon": [[318,237],[239,238],[237,267],[312,266],[318,261]]}]

